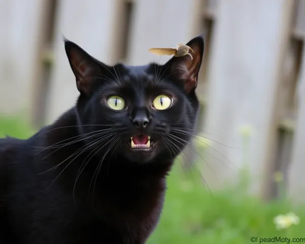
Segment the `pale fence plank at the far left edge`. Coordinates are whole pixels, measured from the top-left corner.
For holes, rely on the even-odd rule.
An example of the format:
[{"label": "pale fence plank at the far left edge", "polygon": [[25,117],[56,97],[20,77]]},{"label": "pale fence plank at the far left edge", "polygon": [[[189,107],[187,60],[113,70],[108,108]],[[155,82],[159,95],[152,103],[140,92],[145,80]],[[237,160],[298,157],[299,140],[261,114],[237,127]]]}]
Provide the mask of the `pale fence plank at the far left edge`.
[{"label": "pale fence plank at the far left edge", "polygon": [[[0,112],[31,114],[44,1],[1,1]],[[28,116],[30,117],[30,116]],[[25,119],[25,117],[24,117]]]}]

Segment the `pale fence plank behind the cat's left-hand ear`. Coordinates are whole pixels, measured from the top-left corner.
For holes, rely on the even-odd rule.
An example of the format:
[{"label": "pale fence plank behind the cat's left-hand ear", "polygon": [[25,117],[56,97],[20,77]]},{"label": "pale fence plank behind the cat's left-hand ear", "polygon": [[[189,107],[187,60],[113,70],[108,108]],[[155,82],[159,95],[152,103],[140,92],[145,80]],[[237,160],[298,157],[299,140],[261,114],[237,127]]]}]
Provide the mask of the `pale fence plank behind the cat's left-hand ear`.
[{"label": "pale fence plank behind the cat's left-hand ear", "polygon": [[102,62],[117,61],[116,34],[120,29],[116,28],[116,22],[120,20],[122,3],[119,0],[59,1],[47,123],[72,107],[78,96],[62,35]]}]

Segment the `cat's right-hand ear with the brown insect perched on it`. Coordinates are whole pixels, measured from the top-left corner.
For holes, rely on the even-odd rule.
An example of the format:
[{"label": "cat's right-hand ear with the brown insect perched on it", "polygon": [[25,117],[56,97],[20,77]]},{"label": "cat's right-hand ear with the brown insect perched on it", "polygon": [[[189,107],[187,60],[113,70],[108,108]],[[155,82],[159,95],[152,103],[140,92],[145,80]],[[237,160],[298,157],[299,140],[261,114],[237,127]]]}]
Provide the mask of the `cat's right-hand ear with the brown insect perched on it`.
[{"label": "cat's right-hand ear with the brown insect perched on it", "polygon": [[184,82],[185,91],[187,94],[191,93],[197,87],[198,73],[202,63],[202,56],[204,50],[204,40],[202,36],[198,36],[189,41],[186,45],[192,48],[189,53],[192,55],[185,55],[182,57],[172,57],[165,66],[170,66],[172,75]]}]

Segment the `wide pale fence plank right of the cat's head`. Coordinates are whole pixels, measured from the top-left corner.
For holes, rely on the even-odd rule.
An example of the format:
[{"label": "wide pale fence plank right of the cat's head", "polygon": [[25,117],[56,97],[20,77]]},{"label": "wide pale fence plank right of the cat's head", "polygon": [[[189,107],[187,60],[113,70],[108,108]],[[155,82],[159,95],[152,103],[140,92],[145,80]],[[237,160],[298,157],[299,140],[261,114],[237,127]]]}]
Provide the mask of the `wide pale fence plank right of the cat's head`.
[{"label": "wide pale fence plank right of the cat's head", "polygon": [[214,134],[207,137],[228,146],[210,142],[215,149],[208,153],[222,162],[206,155],[211,169],[204,166],[204,177],[210,185],[235,182],[239,169],[247,167],[252,190],[258,192],[266,165],[273,161],[277,89],[291,8],[288,0],[218,2],[204,129]]}]

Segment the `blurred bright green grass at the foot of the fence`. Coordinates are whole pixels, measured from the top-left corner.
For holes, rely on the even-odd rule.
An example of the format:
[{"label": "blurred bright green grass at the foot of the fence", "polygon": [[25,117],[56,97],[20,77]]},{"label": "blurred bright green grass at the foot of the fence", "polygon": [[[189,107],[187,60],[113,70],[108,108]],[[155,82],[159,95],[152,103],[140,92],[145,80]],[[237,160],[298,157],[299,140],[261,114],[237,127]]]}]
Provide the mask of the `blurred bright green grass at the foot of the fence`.
[{"label": "blurred bright green grass at the foot of the fence", "polygon": [[[0,137],[26,138],[33,133],[34,130],[16,118],[0,117]],[[273,218],[290,211],[300,217],[300,224],[286,231],[276,230]],[[160,223],[147,243],[245,244],[253,243],[250,240],[253,236],[257,237],[254,243],[260,243],[260,238],[274,236],[291,238],[290,242],[286,239],[284,243],[293,243],[294,237],[305,238],[304,219],[304,207],[292,207],[284,200],[263,203],[247,195],[245,186],[209,192],[204,189],[195,170],[185,172],[177,163],[168,177]]]}]

